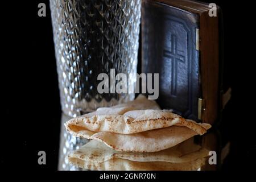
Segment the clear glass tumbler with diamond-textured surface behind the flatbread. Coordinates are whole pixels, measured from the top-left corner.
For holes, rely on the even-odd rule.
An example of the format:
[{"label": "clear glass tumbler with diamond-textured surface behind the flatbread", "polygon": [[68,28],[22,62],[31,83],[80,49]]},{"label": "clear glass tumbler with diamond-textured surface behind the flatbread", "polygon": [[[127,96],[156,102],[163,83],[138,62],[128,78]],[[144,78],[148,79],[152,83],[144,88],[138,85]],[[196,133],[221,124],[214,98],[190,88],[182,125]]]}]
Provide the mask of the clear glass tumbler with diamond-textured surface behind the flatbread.
[{"label": "clear glass tumbler with diamond-textured surface behind the flatbread", "polygon": [[[99,94],[97,77],[114,77],[110,69],[115,75],[137,73],[141,1],[50,0],[50,5],[64,113],[76,117],[133,100],[134,94]],[[135,87],[136,79],[128,81]]]}]

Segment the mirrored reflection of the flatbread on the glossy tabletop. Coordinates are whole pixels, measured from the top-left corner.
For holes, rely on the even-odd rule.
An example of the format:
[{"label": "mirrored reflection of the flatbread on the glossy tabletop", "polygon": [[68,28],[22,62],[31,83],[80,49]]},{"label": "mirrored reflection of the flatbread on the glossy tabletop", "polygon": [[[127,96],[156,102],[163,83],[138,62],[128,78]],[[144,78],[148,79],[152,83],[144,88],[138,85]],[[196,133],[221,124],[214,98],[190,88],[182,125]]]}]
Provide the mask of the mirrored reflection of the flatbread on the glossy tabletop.
[{"label": "mirrored reflection of the flatbread on the glossy tabletop", "polygon": [[118,152],[92,140],[68,156],[68,162],[90,170],[197,170],[208,150],[187,140],[160,152]]}]

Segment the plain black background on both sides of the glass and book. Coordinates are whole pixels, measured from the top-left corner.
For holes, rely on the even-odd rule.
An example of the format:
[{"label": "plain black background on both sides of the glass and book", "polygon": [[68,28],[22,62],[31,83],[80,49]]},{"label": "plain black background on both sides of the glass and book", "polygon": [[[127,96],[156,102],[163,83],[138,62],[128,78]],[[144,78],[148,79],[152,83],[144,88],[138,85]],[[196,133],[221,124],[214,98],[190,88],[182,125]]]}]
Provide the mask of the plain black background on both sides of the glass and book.
[{"label": "plain black background on both sides of the glass and book", "polygon": [[[38,16],[40,2],[47,5],[46,17]],[[254,6],[251,1],[213,2],[224,13],[225,78],[233,89],[221,125],[224,138],[231,142],[222,169],[253,169]],[[2,9],[7,11],[1,19],[1,166],[13,166],[15,161],[19,169],[56,170],[61,109],[49,3],[12,1]],[[38,165],[40,150],[46,151],[47,165]]]}]

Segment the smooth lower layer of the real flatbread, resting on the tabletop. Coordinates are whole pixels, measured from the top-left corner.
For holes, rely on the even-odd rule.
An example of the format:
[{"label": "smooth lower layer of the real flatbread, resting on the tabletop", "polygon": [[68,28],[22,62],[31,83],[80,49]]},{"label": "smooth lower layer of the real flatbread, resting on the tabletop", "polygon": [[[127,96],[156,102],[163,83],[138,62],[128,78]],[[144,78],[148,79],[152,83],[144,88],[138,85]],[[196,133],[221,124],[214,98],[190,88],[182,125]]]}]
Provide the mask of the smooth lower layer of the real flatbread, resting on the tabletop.
[{"label": "smooth lower layer of the real flatbread, resting on the tabletop", "polygon": [[[204,127],[205,130],[210,128],[208,124],[197,125]],[[198,134],[185,126],[171,126],[129,135],[98,132],[88,139],[101,141],[117,151],[157,152],[174,147]]]}]

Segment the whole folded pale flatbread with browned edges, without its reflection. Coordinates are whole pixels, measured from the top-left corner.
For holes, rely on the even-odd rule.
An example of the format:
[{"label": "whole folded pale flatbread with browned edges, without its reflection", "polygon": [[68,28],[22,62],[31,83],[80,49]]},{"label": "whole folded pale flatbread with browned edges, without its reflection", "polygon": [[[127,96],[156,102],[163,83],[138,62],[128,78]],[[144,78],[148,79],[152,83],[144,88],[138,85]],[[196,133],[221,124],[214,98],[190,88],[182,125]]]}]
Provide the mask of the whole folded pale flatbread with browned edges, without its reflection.
[{"label": "whole folded pale flatbread with browned edges, without its reflection", "polygon": [[157,152],[203,135],[211,126],[160,110],[155,101],[141,95],[126,104],[73,118],[65,127],[75,137],[98,140],[116,151]]}]

